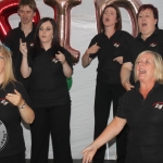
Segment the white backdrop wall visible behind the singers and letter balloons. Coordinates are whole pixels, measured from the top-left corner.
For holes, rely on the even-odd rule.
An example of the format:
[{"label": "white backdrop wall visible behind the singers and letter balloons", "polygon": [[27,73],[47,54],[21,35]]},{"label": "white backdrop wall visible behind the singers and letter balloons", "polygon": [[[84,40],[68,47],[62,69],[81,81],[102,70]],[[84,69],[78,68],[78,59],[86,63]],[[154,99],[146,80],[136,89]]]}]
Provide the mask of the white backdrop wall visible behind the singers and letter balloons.
[{"label": "white backdrop wall visible behind the singers and letter balloons", "polygon": [[[43,3],[43,0],[36,0],[41,17],[53,17],[53,10]],[[159,26],[163,28],[163,1],[141,0],[141,3],[152,3],[159,9]],[[121,9],[123,18],[123,29],[131,33],[130,22],[127,11]],[[10,16],[12,27],[16,27],[20,18],[16,14]],[[80,5],[72,9],[71,20],[71,46],[80,51],[83,57],[90,39],[97,34],[93,0],[83,0]],[[91,143],[93,135],[93,97],[96,87],[95,60],[87,68],[82,67],[82,62],[74,66],[73,86],[71,89],[72,117],[71,117],[71,147],[73,159],[82,158],[82,150]],[[110,121],[112,120],[112,112]],[[26,143],[26,158],[30,158],[30,131],[24,127]],[[111,143],[110,143],[111,145]],[[115,145],[108,149],[105,158],[115,159]],[[52,158],[50,145],[49,158]]]}]

